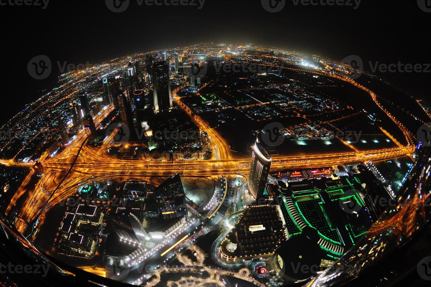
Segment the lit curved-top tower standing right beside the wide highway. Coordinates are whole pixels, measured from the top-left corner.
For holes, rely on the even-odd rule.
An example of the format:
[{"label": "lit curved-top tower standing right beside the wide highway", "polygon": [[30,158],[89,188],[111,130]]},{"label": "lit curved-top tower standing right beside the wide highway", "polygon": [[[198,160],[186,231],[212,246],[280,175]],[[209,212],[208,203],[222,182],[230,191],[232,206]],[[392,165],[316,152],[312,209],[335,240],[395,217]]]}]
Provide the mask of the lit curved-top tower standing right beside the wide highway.
[{"label": "lit curved-top tower standing right beside the wide highway", "polygon": [[265,191],[265,184],[268,181],[271,157],[266,151],[259,138],[256,139],[252,147],[250,176],[248,179],[248,190],[254,198],[262,198]]}]

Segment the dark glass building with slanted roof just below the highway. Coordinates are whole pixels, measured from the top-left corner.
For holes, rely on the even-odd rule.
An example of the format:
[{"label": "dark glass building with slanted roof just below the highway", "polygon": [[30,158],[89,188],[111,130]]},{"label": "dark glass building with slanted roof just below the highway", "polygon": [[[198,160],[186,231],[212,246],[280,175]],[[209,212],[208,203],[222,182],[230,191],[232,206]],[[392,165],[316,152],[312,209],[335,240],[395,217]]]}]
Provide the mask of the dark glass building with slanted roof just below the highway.
[{"label": "dark glass building with slanted roof just below the highway", "polygon": [[185,217],[187,206],[180,175],[175,173],[154,191],[163,218]]}]

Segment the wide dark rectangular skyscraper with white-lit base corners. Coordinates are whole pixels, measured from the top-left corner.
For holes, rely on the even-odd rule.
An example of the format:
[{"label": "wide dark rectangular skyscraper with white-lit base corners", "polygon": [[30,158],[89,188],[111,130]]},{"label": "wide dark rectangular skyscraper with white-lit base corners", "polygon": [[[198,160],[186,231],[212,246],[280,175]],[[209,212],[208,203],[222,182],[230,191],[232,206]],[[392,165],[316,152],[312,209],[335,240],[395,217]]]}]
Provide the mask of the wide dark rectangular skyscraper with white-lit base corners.
[{"label": "wide dark rectangular skyscraper with white-lit base corners", "polygon": [[154,111],[172,109],[171,85],[169,83],[169,65],[165,61],[153,65]]}]

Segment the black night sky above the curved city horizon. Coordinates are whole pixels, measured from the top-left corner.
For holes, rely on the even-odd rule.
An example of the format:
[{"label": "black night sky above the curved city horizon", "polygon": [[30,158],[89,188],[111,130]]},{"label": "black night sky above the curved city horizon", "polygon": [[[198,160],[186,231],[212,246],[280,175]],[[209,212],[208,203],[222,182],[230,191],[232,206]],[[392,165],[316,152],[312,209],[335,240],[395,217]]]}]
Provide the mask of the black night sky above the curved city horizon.
[{"label": "black night sky above the curved city horizon", "polygon": [[[10,1],[15,0],[0,3]],[[5,100],[0,123],[41,96],[44,89],[56,86],[57,61],[100,63],[197,42],[231,42],[311,52],[334,61],[359,55],[365,70],[370,70],[369,61],[431,62],[431,13],[423,12],[415,0],[362,0],[358,9],[295,6],[293,0],[286,0],[277,13],[263,9],[260,0],[206,0],[202,9],[196,3],[138,6],[137,0],[130,0],[121,13],[111,12],[105,0],[50,0],[46,9],[0,6]],[[46,80],[34,80],[27,64],[41,54],[51,59],[53,72]],[[431,73],[378,75],[413,96],[429,96]]]}]

